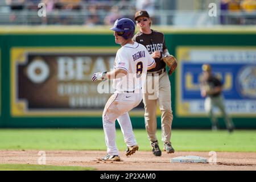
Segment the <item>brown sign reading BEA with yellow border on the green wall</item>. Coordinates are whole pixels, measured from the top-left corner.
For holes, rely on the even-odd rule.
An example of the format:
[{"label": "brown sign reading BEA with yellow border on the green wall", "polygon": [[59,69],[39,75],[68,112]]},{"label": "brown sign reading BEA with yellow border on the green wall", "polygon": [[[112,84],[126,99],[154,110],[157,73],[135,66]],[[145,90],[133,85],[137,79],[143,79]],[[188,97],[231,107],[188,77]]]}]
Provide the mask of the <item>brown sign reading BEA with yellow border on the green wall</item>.
[{"label": "brown sign reading BEA with yellow border on the green wall", "polygon": [[[118,47],[11,49],[11,114],[101,116],[111,93],[98,93],[96,72],[110,71]],[[133,114],[143,115],[143,107]],[[139,110],[139,111],[138,111]]]}]

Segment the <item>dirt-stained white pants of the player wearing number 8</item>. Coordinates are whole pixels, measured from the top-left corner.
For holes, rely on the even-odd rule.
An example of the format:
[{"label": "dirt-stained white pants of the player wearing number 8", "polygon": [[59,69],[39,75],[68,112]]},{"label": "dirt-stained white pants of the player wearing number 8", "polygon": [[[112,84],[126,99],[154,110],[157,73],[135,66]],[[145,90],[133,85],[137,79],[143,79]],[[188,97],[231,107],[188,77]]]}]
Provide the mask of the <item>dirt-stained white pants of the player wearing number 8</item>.
[{"label": "dirt-stained white pants of the player wearing number 8", "polygon": [[106,103],[102,121],[109,155],[118,155],[118,148],[115,143],[115,119],[121,127],[127,146],[137,144],[128,111],[138,106],[141,100],[141,93],[114,93]]}]

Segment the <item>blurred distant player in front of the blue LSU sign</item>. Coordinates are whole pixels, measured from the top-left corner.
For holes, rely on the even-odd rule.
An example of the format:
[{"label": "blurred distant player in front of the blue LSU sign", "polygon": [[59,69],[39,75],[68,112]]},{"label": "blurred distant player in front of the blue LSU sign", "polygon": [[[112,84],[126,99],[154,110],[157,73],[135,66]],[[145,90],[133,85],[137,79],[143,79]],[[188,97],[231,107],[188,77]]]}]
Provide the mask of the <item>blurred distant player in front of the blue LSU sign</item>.
[{"label": "blurred distant player in front of the blue LSU sign", "polygon": [[218,129],[218,120],[213,113],[213,107],[218,107],[222,115],[228,131],[231,133],[234,130],[232,119],[228,116],[224,106],[224,98],[222,96],[222,84],[216,76],[212,74],[212,68],[209,64],[202,66],[203,74],[200,77],[201,96],[205,97],[205,111],[207,111],[212,122],[212,130]]}]

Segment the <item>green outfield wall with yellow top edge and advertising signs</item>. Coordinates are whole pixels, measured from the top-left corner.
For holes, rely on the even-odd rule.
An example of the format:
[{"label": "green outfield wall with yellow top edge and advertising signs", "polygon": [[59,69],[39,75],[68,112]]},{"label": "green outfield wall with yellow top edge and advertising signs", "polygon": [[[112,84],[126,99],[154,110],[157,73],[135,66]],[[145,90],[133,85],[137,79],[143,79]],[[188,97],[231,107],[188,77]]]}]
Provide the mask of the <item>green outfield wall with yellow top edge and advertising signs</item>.
[{"label": "green outfield wall with yellow top edge and advertising signs", "polygon": [[[167,47],[179,62],[170,76],[173,127],[210,127],[199,92],[201,65],[209,63],[224,82],[226,108],[236,127],[256,128],[255,28],[156,30],[165,33]],[[113,32],[1,27],[0,46],[0,127],[102,127],[110,94],[97,93],[98,85],[90,78],[112,68],[119,48]],[[160,110],[157,114],[160,126]],[[130,115],[134,127],[144,127],[143,104]]]}]

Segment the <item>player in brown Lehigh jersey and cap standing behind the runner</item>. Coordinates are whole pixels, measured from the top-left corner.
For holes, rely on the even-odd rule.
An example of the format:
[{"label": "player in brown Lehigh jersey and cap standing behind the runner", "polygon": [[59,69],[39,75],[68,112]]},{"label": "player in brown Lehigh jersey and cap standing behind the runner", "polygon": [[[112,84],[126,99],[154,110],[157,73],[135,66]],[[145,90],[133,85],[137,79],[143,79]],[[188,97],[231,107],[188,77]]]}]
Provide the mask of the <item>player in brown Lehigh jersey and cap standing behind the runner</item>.
[{"label": "player in brown Lehigh jersey and cap standing behind the runner", "polygon": [[[143,94],[143,104],[145,109],[145,125],[148,134],[148,139],[150,139],[152,152],[155,156],[161,156],[162,152],[159,148],[158,139],[156,138],[156,106],[159,102],[159,107],[162,112],[161,122],[162,122],[162,141],[164,142],[164,151],[167,153],[174,153],[174,148],[171,145],[171,126],[172,126],[172,107],[171,107],[171,84],[169,77],[166,72],[166,63],[162,59],[163,56],[170,55],[166,47],[164,40],[164,35],[162,32],[151,30],[151,19],[147,11],[139,10],[135,13],[134,17],[139,32],[134,36],[133,40],[140,44],[143,44],[151,56],[155,59],[156,67],[148,70],[147,74],[147,84],[151,86],[148,82],[148,77],[155,77],[158,74],[159,90],[158,98],[149,99],[148,90]],[[158,89],[158,88],[155,88]]]}]

